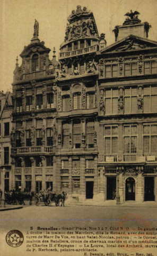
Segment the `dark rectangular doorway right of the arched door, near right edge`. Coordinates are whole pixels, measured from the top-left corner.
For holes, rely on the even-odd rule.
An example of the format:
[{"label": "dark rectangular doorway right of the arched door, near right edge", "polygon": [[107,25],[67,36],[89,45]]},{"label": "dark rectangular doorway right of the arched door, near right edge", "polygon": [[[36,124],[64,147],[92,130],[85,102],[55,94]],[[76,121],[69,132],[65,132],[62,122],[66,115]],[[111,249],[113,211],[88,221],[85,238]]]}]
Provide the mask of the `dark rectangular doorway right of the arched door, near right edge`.
[{"label": "dark rectangular doorway right of the arched door, near right edge", "polygon": [[144,177],[144,201],[155,201],[154,177]]}]

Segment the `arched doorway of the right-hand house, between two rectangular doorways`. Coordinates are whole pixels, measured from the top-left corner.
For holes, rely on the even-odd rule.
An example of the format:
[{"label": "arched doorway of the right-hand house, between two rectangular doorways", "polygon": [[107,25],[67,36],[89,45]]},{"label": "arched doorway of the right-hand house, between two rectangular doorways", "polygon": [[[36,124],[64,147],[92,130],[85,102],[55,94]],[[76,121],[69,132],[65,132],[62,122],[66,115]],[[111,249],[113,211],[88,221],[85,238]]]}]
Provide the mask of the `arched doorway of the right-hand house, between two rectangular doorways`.
[{"label": "arched doorway of the right-hand house, between two rectangular doorways", "polygon": [[135,180],[127,178],[125,183],[125,200],[135,201]]}]

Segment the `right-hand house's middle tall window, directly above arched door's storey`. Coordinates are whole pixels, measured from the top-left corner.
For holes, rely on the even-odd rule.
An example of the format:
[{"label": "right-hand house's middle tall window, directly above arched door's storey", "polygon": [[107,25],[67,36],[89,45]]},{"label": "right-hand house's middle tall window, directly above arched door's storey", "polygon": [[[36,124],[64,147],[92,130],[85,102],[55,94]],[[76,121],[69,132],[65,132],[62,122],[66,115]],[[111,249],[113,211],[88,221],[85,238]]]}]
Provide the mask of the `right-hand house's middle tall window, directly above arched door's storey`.
[{"label": "right-hand house's middle tall window, directly above arched door's storey", "polygon": [[124,126],[124,153],[133,154],[137,150],[137,126]]}]

